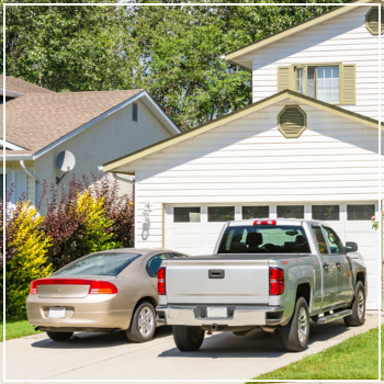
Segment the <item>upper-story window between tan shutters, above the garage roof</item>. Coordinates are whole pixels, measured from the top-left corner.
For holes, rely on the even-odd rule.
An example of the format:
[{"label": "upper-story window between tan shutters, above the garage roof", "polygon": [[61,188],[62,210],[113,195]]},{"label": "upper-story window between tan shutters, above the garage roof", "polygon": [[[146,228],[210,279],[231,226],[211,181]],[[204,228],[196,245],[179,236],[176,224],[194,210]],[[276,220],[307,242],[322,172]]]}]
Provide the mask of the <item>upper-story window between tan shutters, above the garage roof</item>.
[{"label": "upper-story window between tan shutters, above the garage roof", "polygon": [[294,67],[296,91],[331,104],[340,102],[339,66]]}]

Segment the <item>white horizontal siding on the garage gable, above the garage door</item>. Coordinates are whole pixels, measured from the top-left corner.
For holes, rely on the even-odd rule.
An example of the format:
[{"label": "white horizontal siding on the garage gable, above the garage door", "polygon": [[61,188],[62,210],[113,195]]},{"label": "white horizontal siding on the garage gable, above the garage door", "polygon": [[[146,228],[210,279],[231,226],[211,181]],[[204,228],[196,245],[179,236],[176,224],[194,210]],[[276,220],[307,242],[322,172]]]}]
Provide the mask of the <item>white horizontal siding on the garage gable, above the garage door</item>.
[{"label": "white horizontal siding on the garage gable, above the garage door", "polygon": [[301,108],[307,129],[298,138],[278,131],[283,105],[274,105],[134,162],[135,246],[162,246],[167,203],[375,201],[377,129]]}]

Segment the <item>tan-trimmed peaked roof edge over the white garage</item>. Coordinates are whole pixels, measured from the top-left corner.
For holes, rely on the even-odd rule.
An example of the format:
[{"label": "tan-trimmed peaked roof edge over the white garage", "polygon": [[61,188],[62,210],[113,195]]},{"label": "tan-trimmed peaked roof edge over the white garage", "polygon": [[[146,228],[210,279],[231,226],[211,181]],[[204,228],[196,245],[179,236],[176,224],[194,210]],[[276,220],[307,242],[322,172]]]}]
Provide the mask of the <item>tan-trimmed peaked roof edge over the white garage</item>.
[{"label": "tan-trimmed peaked roof edge over the white garage", "polygon": [[[104,172],[124,173],[122,170],[118,170],[120,167],[126,166],[133,161],[139,160],[146,156],[158,153],[158,151],[166,149],[168,147],[171,147],[176,144],[179,144],[179,143],[182,143],[182,142],[188,140],[190,138],[196,137],[196,136],[204,134],[208,131],[217,128],[224,124],[228,124],[237,118],[241,118],[246,115],[249,115],[250,113],[258,112],[258,111],[263,110],[268,106],[271,106],[273,104],[282,102],[284,100],[293,100],[297,103],[315,106],[319,110],[334,113],[338,116],[342,116],[342,117],[359,122],[361,124],[364,124],[365,126],[379,128],[379,122],[374,118],[363,116],[361,114],[345,110],[342,108],[339,108],[339,106],[336,106],[332,104],[328,104],[326,102],[306,97],[304,94],[301,94],[301,93],[297,93],[297,92],[294,92],[291,90],[284,90],[284,91],[281,91],[279,93],[275,93],[269,98],[260,100],[256,103],[247,105],[240,110],[228,113],[227,115],[218,117],[214,121],[204,123],[195,128],[183,132],[180,135],[166,138],[161,142],[158,142],[158,143],[153,144],[148,147],[136,150],[132,154],[128,154],[126,156],[117,158],[113,161],[109,161],[109,162],[103,165],[103,171]],[[381,129],[384,131],[384,123],[381,123]]]}]

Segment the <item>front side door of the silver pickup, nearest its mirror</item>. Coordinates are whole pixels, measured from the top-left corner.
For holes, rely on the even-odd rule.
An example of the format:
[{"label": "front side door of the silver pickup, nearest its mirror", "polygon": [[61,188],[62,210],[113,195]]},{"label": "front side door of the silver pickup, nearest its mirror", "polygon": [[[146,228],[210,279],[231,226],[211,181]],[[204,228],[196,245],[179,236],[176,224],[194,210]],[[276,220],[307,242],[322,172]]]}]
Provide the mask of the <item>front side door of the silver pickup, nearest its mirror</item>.
[{"label": "front side door of the silver pickup, nearest its mirror", "polygon": [[335,303],[338,305],[348,304],[353,297],[353,286],[346,248],[332,228],[324,226],[324,231],[330,253],[336,258]]}]

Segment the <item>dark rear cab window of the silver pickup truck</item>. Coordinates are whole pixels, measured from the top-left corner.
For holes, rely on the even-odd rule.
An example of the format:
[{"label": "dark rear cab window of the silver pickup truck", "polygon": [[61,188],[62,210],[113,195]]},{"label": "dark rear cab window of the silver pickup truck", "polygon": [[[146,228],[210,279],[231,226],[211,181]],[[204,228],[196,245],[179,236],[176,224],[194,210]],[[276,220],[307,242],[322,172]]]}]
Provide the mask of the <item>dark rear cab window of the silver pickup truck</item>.
[{"label": "dark rear cab window of the silver pickup truck", "polygon": [[289,225],[227,227],[218,253],[310,253],[303,227]]}]

